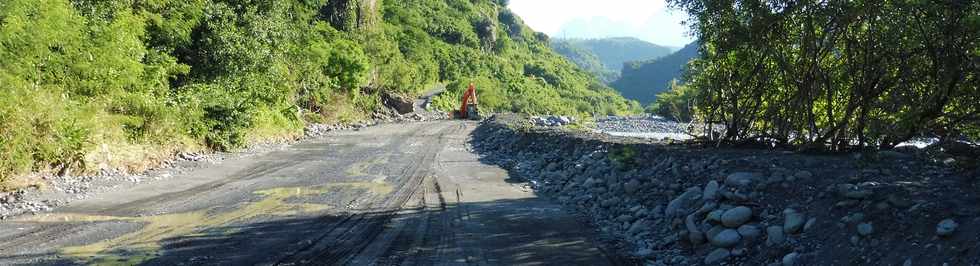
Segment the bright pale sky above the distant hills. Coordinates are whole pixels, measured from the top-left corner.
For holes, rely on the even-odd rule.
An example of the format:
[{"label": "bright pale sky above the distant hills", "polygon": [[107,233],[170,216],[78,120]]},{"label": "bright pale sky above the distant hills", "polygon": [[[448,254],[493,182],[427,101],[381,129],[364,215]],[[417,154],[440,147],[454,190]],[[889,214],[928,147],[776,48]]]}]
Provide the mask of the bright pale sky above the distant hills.
[{"label": "bright pale sky above the distant hills", "polygon": [[636,37],[681,47],[693,41],[687,15],[664,0],[510,0],[531,28],[558,38]]}]

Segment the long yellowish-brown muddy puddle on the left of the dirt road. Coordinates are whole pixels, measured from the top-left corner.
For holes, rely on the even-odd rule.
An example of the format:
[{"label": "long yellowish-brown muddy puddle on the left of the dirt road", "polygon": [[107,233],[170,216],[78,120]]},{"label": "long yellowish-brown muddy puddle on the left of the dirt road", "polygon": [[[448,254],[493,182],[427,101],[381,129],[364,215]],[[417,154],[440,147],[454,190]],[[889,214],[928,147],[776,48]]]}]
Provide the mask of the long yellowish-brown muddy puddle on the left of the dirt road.
[{"label": "long yellowish-brown muddy puddle on the left of the dirt road", "polygon": [[[66,247],[60,250],[63,255],[74,257],[79,262],[92,265],[133,265],[147,262],[162,255],[164,240],[179,237],[213,236],[213,229],[222,229],[235,222],[245,222],[257,217],[282,217],[310,214],[332,208],[319,203],[292,203],[310,200],[338,189],[362,189],[375,195],[386,195],[392,191],[389,184],[378,182],[333,183],[315,187],[274,188],[254,192],[261,200],[248,202],[240,208],[212,213],[212,209],[194,212],[161,214],[143,217],[101,216],[72,213],[54,213],[30,217],[24,221],[33,222],[108,222],[124,221],[141,223],[143,226],[133,232],[113,239],[96,243]],[[218,232],[230,235],[236,227]],[[205,230],[212,229],[207,233]]]}]

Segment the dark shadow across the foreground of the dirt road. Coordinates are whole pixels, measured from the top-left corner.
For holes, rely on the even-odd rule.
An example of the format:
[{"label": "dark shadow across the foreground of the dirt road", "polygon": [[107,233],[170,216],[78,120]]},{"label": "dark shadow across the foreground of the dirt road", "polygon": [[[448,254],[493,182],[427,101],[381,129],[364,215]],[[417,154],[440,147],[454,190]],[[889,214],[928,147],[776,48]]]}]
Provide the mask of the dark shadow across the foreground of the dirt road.
[{"label": "dark shadow across the foreground of the dirt road", "polygon": [[[529,201],[532,200],[463,203],[448,205],[446,210],[416,209],[412,213],[329,214],[207,228],[191,235],[165,238],[158,243],[162,249],[140,264],[345,264],[384,230],[389,230],[391,221],[408,224],[378,257],[379,262],[383,262],[379,264],[613,264],[595,256],[601,253],[588,244],[590,239],[585,237],[588,234],[576,231],[577,228],[554,226],[556,223],[551,217],[555,215],[550,214],[558,210]],[[450,212],[453,208],[460,209]],[[456,215],[458,217],[453,217]],[[422,222],[428,228],[417,230]],[[306,252],[304,256],[296,254],[313,247],[325,248]],[[126,247],[99,253],[99,258],[52,260],[57,257],[52,255],[57,254],[4,255],[0,256],[0,261],[31,265],[129,264],[140,259],[135,256],[143,256]]]}]

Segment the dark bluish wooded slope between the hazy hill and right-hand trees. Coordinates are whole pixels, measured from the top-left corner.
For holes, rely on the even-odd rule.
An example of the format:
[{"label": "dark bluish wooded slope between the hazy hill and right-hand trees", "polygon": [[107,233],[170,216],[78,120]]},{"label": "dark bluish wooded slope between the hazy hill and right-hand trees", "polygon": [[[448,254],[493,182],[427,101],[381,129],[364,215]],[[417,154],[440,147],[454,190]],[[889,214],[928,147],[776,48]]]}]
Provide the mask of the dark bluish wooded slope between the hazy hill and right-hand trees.
[{"label": "dark bluish wooded slope between the hazy hill and right-hand trees", "polygon": [[697,56],[698,45],[691,43],[661,58],[627,62],[619,79],[609,85],[626,98],[649,104],[668,91],[673,80],[680,80],[684,67]]}]

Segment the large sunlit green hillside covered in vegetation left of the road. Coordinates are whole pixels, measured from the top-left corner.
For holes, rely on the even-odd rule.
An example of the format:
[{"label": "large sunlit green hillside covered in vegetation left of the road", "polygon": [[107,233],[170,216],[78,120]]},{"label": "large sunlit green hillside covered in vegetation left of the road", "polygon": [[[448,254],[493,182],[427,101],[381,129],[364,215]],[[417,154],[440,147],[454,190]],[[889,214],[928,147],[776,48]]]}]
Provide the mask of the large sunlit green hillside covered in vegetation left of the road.
[{"label": "large sunlit green hillside covered in vegetation left of the road", "polygon": [[490,0],[0,1],[0,186],[294,137],[440,82],[445,108],[476,82],[486,110],[638,109],[547,39]]}]

